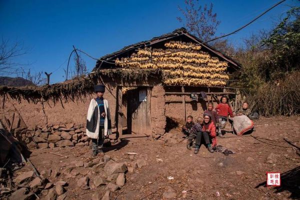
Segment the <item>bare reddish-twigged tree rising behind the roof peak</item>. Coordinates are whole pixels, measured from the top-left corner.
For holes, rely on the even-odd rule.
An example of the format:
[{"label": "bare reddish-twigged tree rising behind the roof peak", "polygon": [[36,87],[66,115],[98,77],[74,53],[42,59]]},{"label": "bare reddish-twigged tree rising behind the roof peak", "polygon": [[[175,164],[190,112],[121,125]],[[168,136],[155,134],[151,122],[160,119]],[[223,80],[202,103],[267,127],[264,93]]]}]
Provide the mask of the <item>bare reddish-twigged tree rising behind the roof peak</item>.
[{"label": "bare reddish-twigged tree rising behind the roof peak", "polygon": [[210,39],[216,31],[220,21],[216,19],[216,13],[212,12],[212,3],[207,6],[202,6],[199,0],[185,0],[185,8],[182,9],[178,6],[179,11],[184,16],[184,20],[181,17],[177,17],[179,22],[184,22],[184,26],[187,30],[195,34],[203,41]]}]

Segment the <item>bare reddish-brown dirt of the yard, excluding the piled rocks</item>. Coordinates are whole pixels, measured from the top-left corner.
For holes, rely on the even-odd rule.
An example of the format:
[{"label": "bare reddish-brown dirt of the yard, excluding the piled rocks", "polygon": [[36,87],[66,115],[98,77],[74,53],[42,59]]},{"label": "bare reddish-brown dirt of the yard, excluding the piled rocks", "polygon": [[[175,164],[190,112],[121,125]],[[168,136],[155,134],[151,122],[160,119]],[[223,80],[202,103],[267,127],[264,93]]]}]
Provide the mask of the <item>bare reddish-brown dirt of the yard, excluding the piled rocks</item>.
[{"label": "bare reddish-brown dirt of the yard, excluding the piled rocks", "polygon": [[[162,199],[169,187],[176,192],[175,199],[299,199],[300,156],[283,138],[300,146],[300,116],[263,118],[255,121],[250,135],[226,133],[217,138],[218,144],[235,151],[225,156],[210,153],[201,146],[198,154],[186,148],[180,129],[171,129],[169,139],[128,138],[105,148],[105,154],[116,161],[132,162],[144,159],[146,166],[126,173],[126,183],[110,199]],[[253,137],[252,137],[253,136]],[[63,158],[49,152],[68,156]],[[137,153],[134,157],[128,152]],[[273,163],[267,163],[270,153]],[[100,157],[101,155],[98,155]],[[72,161],[94,159],[91,149],[85,147],[56,147],[33,150],[30,160],[41,171],[61,171]],[[31,170],[25,166],[17,172]],[[81,190],[76,180],[95,176],[90,167],[77,167],[72,175],[61,174],[50,181],[65,180],[67,199],[90,199],[95,191],[104,194],[104,188]],[[266,187],[266,171],[281,173],[280,187]],[[15,173],[16,175],[17,173]],[[168,179],[167,177],[173,177]],[[186,191],[186,192],[184,192]]]}]

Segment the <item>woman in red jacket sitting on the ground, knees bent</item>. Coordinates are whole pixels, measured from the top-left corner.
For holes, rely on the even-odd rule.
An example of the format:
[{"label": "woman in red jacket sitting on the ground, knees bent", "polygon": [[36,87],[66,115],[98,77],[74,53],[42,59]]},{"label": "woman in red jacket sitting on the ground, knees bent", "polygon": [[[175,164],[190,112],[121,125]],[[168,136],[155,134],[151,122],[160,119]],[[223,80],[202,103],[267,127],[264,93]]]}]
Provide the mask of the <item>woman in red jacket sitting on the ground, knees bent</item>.
[{"label": "woman in red jacket sitting on the ground, knees bent", "polygon": [[195,147],[194,153],[198,153],[202,137],[207,146],[207,150],[209,152],[213,153],[214,151],[213,151],[212,147],[216,146],[215,125],[214,125],[213,121],[211,120],[211,116],[208,113],[203,114],[203,119],[204,119],[204,121],[203,121],[202,131],[197,133],[196,147]]}]

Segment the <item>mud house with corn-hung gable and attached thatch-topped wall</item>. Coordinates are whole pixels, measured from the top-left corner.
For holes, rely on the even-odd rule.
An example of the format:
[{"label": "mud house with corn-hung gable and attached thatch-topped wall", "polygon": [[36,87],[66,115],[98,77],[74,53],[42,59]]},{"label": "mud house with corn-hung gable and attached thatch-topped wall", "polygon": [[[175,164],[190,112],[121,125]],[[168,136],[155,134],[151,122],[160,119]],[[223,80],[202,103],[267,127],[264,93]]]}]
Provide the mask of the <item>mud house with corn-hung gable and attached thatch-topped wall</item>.
[{"label": "mud house with corn-hung gable and attached thatch-topped wall", "polygon": [[[157,138],[167,119],[198,116],[208,101],[223,94],[234,97],[235,91],[225,86],[239,67],[180,28],[99,58],[86,76],[41,87],[1,87],[0,120],[15,133],[24,128],[48,132],[45,140],[55,131],[83,132],[93,85],[102,83],[118,136]],[[63,139],[79,143],[78,138]]]}]

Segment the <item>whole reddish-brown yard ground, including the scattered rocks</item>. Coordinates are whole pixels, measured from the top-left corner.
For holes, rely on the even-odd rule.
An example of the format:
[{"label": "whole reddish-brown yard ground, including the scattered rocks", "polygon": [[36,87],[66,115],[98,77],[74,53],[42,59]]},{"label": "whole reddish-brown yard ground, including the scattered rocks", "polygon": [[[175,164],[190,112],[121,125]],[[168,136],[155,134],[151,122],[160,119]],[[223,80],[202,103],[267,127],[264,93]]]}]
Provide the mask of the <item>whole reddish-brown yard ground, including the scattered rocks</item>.
[{"label": "whole reddish-brown yard ground, including the scattered rocks", "polygon": [[[179,128],[158,140],[128,138],[91,156],[88,146],[35,149],[13,174],[10,199],[297,199],[300,198],[300,117],[255,121],[250,135],[226,133],[225,156],[201,146],[186,149]],[[56,153],[56,154],[52,154]],[[57,155],[60,154],[60,155]],[[266,187],[266,171],[281,173],[280,187]],[[34,193],[32,193],[34,192]]]}]

